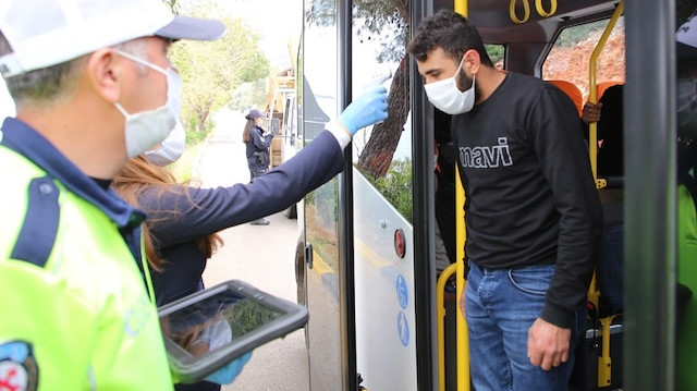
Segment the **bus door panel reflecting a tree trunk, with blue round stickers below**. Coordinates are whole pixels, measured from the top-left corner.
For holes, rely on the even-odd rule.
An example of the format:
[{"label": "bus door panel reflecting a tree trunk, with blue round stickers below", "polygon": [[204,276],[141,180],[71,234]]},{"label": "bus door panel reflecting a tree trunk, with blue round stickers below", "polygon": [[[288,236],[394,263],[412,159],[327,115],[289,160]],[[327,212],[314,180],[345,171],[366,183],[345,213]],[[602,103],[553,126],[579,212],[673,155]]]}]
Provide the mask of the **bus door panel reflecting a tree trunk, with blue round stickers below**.
[{"label": "bus door panel reflecting a tree trunk, with blue round stickers below", "polygon": [[353,14],[352,96],[389,90],[388,119],[353,138],[356,365],[369,390],[415,390],[409,13],[360,1]]}]

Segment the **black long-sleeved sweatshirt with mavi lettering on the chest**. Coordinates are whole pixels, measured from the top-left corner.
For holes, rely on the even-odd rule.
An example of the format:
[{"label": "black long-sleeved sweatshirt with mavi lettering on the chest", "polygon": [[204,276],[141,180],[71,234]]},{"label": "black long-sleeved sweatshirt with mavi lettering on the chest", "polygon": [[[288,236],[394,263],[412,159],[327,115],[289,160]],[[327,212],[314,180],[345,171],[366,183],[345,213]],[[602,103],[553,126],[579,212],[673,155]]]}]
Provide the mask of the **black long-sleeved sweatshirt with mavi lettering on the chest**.
[{"label": "black long-sleeved sweatshirt with mavi lettering on the chest", "polygon": [[586,303],[602,210],[578,114],[539,78],[509,73],[452,119],[465,187],[466,257],[487,269],[555,264],[540,317],[570,328]]}]

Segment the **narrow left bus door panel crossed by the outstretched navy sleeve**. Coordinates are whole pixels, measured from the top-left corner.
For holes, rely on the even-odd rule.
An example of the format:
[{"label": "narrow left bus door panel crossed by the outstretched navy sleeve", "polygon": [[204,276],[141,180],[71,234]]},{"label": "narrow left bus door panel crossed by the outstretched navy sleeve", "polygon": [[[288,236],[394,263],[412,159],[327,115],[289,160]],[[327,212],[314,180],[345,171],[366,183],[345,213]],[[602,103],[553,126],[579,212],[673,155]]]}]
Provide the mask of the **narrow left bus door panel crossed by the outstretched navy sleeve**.
[{"label": "narrow left bus door panel crossed by the outstretched navy sleeve", "polygon": [[[337,117],[337,4],[306,0],[303,32],[302,121],[304,143]],[[339,178],[339,176],[338,176]],[[338,178],[305,197],[305,235],[313,248],[307,269],[307,323],[310,388],[341,390],[339,313]]]}]

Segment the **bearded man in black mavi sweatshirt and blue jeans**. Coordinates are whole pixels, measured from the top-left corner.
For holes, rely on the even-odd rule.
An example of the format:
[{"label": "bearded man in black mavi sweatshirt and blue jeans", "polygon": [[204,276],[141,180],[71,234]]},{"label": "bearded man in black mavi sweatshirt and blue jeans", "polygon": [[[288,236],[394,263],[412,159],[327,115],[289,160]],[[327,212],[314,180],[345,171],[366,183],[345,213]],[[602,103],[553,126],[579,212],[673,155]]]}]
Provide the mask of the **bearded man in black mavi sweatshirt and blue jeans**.
[{"label": "bearded man in black mavi sweatshirt and blue jeans", "polygon": [[453,11],[424,19],[407,50],[429,101],[453,115],[474,387],[565,390],[602,230],[576,108],[549,83],[497,70]]}]

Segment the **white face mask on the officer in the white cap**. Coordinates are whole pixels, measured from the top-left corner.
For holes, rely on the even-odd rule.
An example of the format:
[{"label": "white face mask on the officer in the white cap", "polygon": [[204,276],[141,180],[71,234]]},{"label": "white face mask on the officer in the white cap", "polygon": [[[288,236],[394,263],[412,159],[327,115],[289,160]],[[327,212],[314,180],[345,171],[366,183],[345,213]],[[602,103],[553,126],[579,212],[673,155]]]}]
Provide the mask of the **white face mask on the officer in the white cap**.
[{"label": "white face mask on the officer in the white cap", "polygon": [[130,114],[120,103],[114,103],[126,119],[126,155],[129,158],[134,158],[162,143],[176,125],[182,103],[182,80],[171,66],[163,70],[133,54],[117,49],[114,51],[167,76],[167,102],[163,106]]}]

